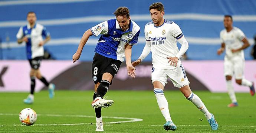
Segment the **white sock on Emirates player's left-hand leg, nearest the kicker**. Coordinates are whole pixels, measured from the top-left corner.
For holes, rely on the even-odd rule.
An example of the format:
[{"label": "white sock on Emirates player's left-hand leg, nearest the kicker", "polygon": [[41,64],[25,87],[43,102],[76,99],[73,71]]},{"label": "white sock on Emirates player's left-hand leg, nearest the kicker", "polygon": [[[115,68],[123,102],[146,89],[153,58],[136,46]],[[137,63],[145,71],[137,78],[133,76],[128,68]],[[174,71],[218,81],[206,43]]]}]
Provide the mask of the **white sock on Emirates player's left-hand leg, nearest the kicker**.
[{"label": "white sock on Emirates player's left-hand leg, nearest the kicker", "polygon": [[157,98],[157,104],[158,104],[166,122],[168,122],[168,121],[173,122],[171,120],[168,102],[167,102],[166,98],[164,97],[164,91],[162,89],[155,88],[154,93],[155,93],[155,97]]}]

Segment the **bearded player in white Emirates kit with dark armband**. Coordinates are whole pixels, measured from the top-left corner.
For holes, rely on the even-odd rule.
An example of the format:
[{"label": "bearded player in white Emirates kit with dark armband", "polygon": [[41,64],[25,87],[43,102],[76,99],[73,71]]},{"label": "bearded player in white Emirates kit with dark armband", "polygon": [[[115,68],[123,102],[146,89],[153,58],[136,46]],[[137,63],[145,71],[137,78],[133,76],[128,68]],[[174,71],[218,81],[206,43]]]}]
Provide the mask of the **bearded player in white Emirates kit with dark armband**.
[{"label": "bearded player in white Emirates kit with dark armband", "polygon": [[[149,10],[152,21],[145,25],[146,45],[139,59],[133,62],[132,65],[137,66],[150,51],[152,52],[152,83],[158,106],[166,119],[164,129],[177,129],[171,119],[168,102],[164,96],[164,86],[167,84],[167,78],[169,77],[174,86],[180,88],[184,96],[204,113],[211,129],[217,130],[218,124],[213,114],[207,110],[201,99],[190,90],[188,85],[190,82],[180,61],[180,57],[188,49],[188,42],[180,27],[173,21],[164,19],[162,3],[151,4]],[[176,41],[182,45],[180,51]]]}]

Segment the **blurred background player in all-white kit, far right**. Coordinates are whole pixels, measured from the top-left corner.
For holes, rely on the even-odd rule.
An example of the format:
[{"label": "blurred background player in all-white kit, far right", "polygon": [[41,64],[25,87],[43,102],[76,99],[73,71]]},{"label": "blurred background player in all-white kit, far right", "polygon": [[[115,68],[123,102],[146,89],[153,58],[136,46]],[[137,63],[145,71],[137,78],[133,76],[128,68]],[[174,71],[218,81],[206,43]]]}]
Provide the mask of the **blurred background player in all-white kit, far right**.
[{"label": "blurred background player in all-white kit, far right", "polygon": [[[237,27],[233,27],[233,19],[231,15],[224,16],[224,27],[220,32],[221,48],[218,49],[217,54],[221,55],[226,49],[226,55],[224,57],[224,75],[226,76],[226,87],[229,93],[229,97],[232,101],[228,107],[238,106],[236,95],[232,86],[232,75],[236,78],[236,83],[239,85],[248,86],[250,88],[250,94],[255,94],[254,84],[244,78],[244,53],[243,49],[250,46],[243,31]],[[242,45],[243,43],[243,45]]]}]

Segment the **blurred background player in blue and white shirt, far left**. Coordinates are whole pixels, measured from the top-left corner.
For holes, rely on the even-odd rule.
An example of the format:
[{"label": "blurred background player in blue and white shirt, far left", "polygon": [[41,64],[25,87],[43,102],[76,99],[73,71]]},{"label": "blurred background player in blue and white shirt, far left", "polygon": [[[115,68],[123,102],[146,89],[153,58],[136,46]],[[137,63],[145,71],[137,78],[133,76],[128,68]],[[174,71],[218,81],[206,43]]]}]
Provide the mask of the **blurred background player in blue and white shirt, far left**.
[{"label": "blurred background player in blue and white shirt, far left", "polygon": [[[36,85],[35,77],[41,80],[48,87],[50,98],[53,98],[54,96],[55,85],[52,83],[49,84],[45,77],[41,75],[39,70],[44,53],[43,45],[50,40],[50,33],[46,31],[46,28],[43,25],[36,23],[36,14],[33,11],[27,13],[27,22],[27,25],[20,27],[16,37],[19,44],[26,42],[27,59],[31,66],[31,88],[30,94],[23,100],[23,102],[25,104],[32,104],[34,102]],[[45,40],[43,40],[43,36],[45,37]]]}]

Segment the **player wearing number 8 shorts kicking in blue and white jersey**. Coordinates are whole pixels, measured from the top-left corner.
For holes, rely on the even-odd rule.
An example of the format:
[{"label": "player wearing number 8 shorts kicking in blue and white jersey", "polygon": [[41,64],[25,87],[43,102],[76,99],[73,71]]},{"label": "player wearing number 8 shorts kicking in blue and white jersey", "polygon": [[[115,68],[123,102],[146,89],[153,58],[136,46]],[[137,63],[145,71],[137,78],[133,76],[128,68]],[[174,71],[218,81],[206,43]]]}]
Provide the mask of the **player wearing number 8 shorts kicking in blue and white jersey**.
[{"label": "player wearing number 8 shorts kicking in blue and white jersey", "polygon": [[111,106],[114,101],[103,99],[103,97],[124,61],[124,57],[128,75],[136,76],[131,64],[131,48],[137,44],[140,27],[131,20],[127,7],[117,8],[114,15],[116,19],[107,20],[88,29],[83,34],[78,49],[73,55],[73,62],[76,62],[89,37],[101,34],[92,63],[92,79],[95,84],[92,107],[95,108],[96,113],[96,131],[104,131],[101,108]]}]

